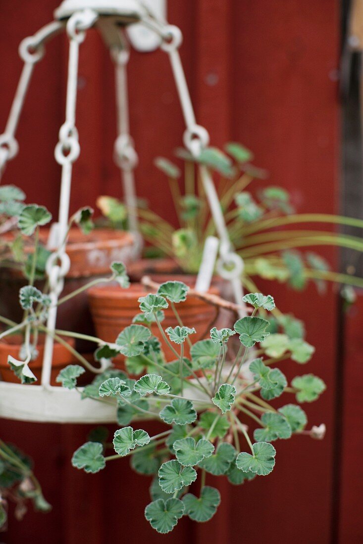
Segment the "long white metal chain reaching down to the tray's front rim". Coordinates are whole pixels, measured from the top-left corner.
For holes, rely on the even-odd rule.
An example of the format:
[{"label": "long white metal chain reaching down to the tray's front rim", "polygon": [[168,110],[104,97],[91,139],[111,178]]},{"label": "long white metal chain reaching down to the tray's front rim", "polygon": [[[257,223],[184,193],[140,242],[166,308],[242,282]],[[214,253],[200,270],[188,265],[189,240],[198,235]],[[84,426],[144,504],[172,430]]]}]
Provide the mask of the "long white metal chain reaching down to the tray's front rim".
[{"label": "long white metal chain reaching down to the tray's front rim", "polygon": [[85,9],[72,15],[66,30],[69,38],[68,80],[66,91],[65,122],[59,131],[59,141],[55,149],[57,163],[62,166],[61,197],[59,201],[59,215],[57,225],[57,251],[48,259],[46,271],[50,283],[51,305],[47,319],[47,329],[44,346],[43,369],[41,385],[48,387],[51,378],[53,344],[52,332],[56,328],[57,301],[62,292],[64,277],[68,273],[70,261],[65,252],[66,236],[68,232],[69,202],[72,179],[72,165],[80,154],[76,123],[78,59],[80,44],[86,38],[86,30],[93,26],[98,14],[93,10]]}]

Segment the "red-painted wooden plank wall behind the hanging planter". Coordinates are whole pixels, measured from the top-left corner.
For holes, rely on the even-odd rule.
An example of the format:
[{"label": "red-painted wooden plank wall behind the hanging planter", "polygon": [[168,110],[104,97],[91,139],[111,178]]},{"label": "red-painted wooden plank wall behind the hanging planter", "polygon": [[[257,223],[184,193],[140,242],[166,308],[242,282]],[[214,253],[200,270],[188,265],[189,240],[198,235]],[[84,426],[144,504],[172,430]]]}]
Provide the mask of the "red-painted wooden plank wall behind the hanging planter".
[{"label": "red-painted wooden plank wall behind the hanging planter", "polygon": [[[23,36],[50,20],[57,4],[57,0],[0,0],[0,127],[21,69],[17,46]],[[169,20],[184,33],[181,55],[187,79],[198,122],[208,127],[212,143],[241,141],[255,152],[256,164],[271,172],[271,181],[292,192],[300,211],[334,212],[337,0],[169,0],[168,10]],[[19,129],[19,157],[9,164],[5,177],[7,183],[25,188],[29,201],[44,203],[53,213],[59,190],[53,150],[64,116],[66,51],[65,39],[57,38],[36,68]],[[72,209],[94,205],[99,194],[120,195],[119,173],[112,162],[113,71],[93,31],[82,45],[80,66],[77,127],[82,152],[75,166]],[[140,154],[138,193],[152,202],[156,212],[172,219],[170,197],[152,165],[158,154],[171,156],[183,131],[164,53],[132,53],[130,101],[132,135]],[[331,251],[325,255],[334,261]],[[130,473],[127,460],[92,476],[70,467],[72,451],[86,436],[84,426],[2,421],[3,437],[34,456],[54,509],[47,516],[29,513],[23,523],[11,520],[0,540],[134,544],[148,539],[204,544],[209,537],[217,544],[325,544],[338,541],[337,524],[332,522],[342,511],[339,541],[361,541],[361,524],[349,516],[351,475],[342,474],[341,501],[332,494],[335,474],[340,472],[334,466],[334,411],[340,394],[335,384],[336,296],[331,290],[331,296],[317,300],[309,288],[294,295],[292,306],[292,294],[285,288],[277,287],[273,294],[283,310],[306,321],[307,339],[316,345],[313,363],[301,373],[316,373],[328,385],[322,399],[306,407],[312,424],[326,423],[324,442],[306,437],[279,442],[273,474],[239,488],[223,485],[222,506],[213,521],[196,527],[183,520],[171,536],[161,537],[142,515],[148,484]]]}]

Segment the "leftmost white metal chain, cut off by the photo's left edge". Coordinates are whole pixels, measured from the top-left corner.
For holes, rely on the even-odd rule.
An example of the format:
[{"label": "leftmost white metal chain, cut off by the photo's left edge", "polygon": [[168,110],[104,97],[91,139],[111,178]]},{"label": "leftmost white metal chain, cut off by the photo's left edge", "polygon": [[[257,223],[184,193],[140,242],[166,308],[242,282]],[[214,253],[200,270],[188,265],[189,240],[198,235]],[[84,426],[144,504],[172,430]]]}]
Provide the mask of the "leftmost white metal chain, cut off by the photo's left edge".
[{"label": "leftmost white metal chain, cut off by the photo's left edge", "polygon": [[63,26],[64,24],[59,21],[47,24],[34,34],[34,36],[29,36],[29,38],[22,40],[19,46],[19,54],[24,61],[24,65],[15,92],[13,104],[11,105],[5,131],[0,135],[0,180],[8,160],[13,159],[19,151],[15,133],[19,124],[29,84],[32,79],[34,66],[44,57],[44,43],[62,30]]}]

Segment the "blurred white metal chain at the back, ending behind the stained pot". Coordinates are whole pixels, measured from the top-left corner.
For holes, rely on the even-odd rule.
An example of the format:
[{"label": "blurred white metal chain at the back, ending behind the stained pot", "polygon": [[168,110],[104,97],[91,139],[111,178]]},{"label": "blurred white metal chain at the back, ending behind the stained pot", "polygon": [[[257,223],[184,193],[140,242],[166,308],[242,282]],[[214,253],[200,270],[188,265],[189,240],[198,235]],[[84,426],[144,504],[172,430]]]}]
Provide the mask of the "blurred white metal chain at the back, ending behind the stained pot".
[{"label": "blurred white metal chain at the back, ending behind the stained pot", "polygon": [[129,230],[135,237],[134,256],[140,256],[142,238],[138,228],[137,197],[134,169],[138,164],[134,140],[130,135],[127,65],[130,58],[128,44],[119,34],[119,44],[111,48],[115,65],[118,137],[114,145],[114,160],[121,170],[124,199],[128,210]]}]

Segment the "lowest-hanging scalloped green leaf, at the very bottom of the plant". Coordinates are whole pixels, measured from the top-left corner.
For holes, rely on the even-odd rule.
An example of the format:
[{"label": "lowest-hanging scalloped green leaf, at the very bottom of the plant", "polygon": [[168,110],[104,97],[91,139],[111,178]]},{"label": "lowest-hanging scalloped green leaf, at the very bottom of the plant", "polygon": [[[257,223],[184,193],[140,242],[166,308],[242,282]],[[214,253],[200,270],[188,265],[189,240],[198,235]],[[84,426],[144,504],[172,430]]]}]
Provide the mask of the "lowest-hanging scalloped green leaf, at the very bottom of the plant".
[{"label": "lowest-hanging scalloped green leaf, at the very bottom of the plant", "polygon": [[148,504],[145,517],[158,533],[170,533],[184,515],[184,504],[177,498],[156,499]]}]

